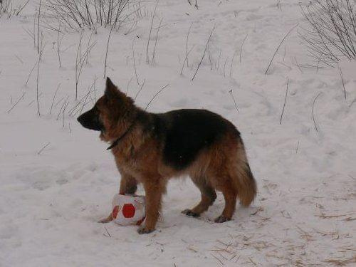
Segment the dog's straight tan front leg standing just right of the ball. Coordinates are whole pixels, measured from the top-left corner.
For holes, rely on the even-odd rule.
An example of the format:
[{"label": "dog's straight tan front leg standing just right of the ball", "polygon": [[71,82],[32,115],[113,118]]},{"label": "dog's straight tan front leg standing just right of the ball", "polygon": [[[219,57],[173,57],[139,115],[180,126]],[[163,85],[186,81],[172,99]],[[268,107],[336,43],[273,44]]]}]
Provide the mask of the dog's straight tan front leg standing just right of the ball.
[{"label": "dog's straight tan front leg standing just right of the ball", "polygon": [[143,186],[146,192],[146,219],[145,224],[138,229],[138,233],[148,234],[155,231],[165,184],[156,179],[143,182]]}]

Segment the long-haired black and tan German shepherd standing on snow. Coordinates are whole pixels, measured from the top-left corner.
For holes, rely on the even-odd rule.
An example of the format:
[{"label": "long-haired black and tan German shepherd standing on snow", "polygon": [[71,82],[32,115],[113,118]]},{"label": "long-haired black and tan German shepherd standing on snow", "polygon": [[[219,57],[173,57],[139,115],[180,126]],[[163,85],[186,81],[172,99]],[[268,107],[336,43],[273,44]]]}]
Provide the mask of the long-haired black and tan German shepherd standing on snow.
[{"label": "long-haired black and tan German shepherd standing on snow", "polygon": [[[189,174],[201,192],[199,204],[182,211],[189,216],[206,211],[216,199],[215,190],[221,191],[225,207],[215,219],[219,223],[231,220],[236,197],[248,206],[256,196],[256,181],[239,131],[213,112],[146,112],[107,78],[105,94],[78,121],[110,142],[108,149],[121,174],[120,194],[134,194],[137,183],[143,184],[147,206],[140,234],[155,230],[162,194],[172,177]],[[108,221],[111,214],[100,222]]]}]

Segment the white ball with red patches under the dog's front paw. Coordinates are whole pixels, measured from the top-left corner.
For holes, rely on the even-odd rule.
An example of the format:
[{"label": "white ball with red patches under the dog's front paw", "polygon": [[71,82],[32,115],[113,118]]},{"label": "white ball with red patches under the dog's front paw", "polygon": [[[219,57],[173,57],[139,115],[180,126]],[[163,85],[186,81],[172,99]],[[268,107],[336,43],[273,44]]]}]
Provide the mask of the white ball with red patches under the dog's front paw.
[{"label": "white ball with red patches under the dog's front paw", "polygon": [[140,225],[145,219],[145,197],[116,194],[112,199],[112,218],[121,226]]}]

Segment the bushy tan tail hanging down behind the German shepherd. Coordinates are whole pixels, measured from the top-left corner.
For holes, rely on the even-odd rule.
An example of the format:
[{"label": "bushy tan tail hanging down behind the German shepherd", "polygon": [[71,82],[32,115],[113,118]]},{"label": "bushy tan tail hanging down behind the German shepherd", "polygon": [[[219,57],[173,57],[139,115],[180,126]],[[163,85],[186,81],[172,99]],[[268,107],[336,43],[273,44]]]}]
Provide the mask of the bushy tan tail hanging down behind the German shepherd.
[{"label": "bushy tan tail hanging down behind the German shepherd", "polygon": [[249,206],[256,197],[257,186],[247,162],[244,145],[239,149],[237,156],[237,172],[235,172],[233,176],[234,185],[238,192],[241,205]]}]

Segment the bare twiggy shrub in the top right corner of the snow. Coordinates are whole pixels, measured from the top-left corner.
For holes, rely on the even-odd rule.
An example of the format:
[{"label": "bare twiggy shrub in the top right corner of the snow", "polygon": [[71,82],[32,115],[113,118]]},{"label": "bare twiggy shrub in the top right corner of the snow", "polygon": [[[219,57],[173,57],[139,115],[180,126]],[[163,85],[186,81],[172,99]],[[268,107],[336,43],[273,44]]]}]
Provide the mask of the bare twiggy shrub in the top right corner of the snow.
[{"label": "bare twiggy shrub in the top right corner of the snow", "polygon": [[309,27],[300,36],[313,58],[329,66],[343,57],[356,59],[356,10],[352,0],[315,0],[301,10]]}]

